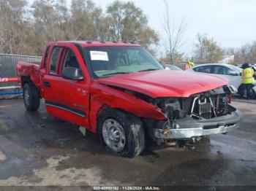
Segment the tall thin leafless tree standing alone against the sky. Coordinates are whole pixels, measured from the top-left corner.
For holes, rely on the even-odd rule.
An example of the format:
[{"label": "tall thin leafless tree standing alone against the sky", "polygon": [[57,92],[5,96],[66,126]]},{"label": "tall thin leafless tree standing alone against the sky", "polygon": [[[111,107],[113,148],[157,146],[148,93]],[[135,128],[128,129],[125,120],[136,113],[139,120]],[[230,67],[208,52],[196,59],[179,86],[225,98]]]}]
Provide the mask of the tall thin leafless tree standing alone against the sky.
[{"label": "tall thin leafless tree standing alone against the sky", "polygon": [[[175,55],[180,55],[181,53],[178,49],[182,45],[182,40],[184,38],[184,33],[187,31],[187,23],[183,17],[178,24],[176,24],[175,18],[170,17],[169,4],[166,0],[163,0],[165,4],[165,12],[163,14],[163,23],[166,37],[167,37],[167,55],[169,55],[170,63],[176,61]],[[171,22],[173,20],[173,22]]]}]

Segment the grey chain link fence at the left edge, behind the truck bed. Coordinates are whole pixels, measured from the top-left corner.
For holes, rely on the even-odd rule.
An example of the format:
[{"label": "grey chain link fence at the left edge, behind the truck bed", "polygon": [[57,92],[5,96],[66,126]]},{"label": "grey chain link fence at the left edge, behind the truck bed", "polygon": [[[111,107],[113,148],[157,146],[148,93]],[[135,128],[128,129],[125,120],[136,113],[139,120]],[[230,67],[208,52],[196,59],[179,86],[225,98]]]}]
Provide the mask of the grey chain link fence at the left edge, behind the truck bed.
[{"label": "grey chain link fence at the left edge, behind the truck bed", "polygon": [[[41,62],[41,57],[0,54],[0,78],[17,77],[16,66],[20,61],[39,64]],[[0,95],[19,91],[20,87],[18,82],[0,82]]]}]

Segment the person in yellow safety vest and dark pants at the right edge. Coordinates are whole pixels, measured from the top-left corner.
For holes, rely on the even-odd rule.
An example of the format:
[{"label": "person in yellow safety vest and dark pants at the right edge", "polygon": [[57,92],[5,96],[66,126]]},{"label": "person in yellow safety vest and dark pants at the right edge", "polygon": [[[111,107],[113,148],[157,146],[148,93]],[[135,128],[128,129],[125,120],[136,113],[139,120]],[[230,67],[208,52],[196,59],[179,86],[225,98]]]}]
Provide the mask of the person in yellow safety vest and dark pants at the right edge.
[{"label": "person in yellow safety vest and dark pants at the right edge", "polygon": [[[241,89],[242,95],[244,94],[244,90],[246,90],[246,98],[249,99],[249,92],[252,88],[252,83],[254,81],[254,73],[255,71],[249,66],[249,63],[244,63],[241,71]],[[240,95],[240,97],[242,96]]]}]

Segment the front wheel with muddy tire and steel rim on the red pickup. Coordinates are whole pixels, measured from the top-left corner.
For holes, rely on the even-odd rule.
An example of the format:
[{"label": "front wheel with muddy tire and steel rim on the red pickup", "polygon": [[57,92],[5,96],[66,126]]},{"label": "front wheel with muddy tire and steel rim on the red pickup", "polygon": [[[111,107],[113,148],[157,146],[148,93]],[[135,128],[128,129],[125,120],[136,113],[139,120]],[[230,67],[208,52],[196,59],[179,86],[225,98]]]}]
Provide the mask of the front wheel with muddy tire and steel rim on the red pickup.
[{"label": "front wheel with muddy tire and steel rim on the red pickup", "polygon": [[118,155],[135,157],[145,147],[145,132],[138,117],[117,109],[106,109],[98,117],[99,138]]}]

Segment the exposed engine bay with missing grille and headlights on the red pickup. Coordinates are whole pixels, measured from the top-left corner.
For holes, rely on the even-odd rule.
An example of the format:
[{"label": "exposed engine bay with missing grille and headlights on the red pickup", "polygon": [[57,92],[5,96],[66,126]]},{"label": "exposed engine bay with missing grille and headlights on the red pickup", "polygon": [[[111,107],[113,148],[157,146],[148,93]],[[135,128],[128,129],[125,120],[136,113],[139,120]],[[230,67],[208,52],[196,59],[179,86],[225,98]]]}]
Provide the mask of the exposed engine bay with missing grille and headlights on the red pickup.
[{"label": "exposed engine bay with missing grille and headlights on the red pickup", "polygon": [[230,95],[228,87],[219,87],[189,98],[158,98],[154,104],[170,121],[187,116],[195,120],[207,120],[231,112],[229,111]]}]

